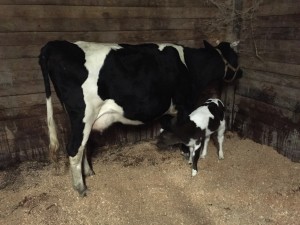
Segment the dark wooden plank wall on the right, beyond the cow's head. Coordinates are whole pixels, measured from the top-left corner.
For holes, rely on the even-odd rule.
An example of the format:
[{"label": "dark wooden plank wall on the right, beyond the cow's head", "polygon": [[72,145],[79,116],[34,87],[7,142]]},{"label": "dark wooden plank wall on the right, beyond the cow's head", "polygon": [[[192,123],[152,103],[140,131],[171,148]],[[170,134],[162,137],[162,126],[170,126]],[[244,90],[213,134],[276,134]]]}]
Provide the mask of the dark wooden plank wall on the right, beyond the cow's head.
[{"label": "dark wooden plank wall on the right, beyond the cow's head", "polygon": [[[243,8],[253,1],[244,0]],[[265,0],[241,29],[232,128],[300,161],[300,4]]]}]

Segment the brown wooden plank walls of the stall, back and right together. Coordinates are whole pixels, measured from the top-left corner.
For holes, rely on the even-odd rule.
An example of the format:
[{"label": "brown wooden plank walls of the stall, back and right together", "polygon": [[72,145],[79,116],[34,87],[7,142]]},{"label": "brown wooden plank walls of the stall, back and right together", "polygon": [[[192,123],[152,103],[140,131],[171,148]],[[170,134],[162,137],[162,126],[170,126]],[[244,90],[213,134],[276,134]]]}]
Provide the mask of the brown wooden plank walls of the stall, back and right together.
[{"label": "brown wooden plank walls of the stall, back and right together", "polygon": [[[0,165],[47,160],[45,95],[37,56],[50,40],[171,42],[240,40],[244,77],[214,84],[228,129],[300,160],[299,2],[291,1],[42,1],[1,0]],[[68,124],[55,100],[65,146]],[[158,126],[117,126],[97,144],[153,139]]]}]

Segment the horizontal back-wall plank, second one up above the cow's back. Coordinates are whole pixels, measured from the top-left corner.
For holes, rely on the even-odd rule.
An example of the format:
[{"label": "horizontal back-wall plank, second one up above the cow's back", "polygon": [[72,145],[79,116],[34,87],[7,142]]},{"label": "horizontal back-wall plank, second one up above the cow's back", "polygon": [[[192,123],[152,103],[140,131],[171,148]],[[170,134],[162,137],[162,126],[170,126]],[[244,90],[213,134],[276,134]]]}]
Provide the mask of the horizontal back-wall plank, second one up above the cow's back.
[{"label": "horizontal back-wall plank, second one up above the cow's back", "polygon": [[0,32],[71,32],[71,31],[142,31],[142,30],[186,30],[209,24],[210,19],[190,18],[2,18]]}]

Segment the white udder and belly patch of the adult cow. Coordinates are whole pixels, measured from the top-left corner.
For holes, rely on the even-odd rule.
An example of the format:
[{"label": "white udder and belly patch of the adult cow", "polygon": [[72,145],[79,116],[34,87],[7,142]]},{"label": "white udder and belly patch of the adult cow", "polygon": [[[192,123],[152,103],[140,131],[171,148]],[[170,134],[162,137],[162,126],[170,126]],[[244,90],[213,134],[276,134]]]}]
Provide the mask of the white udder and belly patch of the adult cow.
[{"label": "white udder and belly patch of the adult cow", "polygon": [[93,129],[103,132],[111,124],[120,122],[127,125],[140,125],[141,121],[130,120],[124,117],[124,110],[114,100],[108,99],[101,104],[101,109],[97,116]]}]

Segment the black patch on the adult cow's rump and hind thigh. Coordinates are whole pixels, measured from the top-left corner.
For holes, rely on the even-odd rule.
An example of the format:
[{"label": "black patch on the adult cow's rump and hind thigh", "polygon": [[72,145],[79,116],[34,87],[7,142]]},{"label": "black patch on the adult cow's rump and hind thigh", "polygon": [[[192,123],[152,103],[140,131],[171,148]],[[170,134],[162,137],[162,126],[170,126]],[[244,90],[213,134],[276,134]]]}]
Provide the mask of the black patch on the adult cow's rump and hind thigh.
[{"label": "black patch on the adult cow's rump and hind thigh", "polygon": [[[72,134],[67,146],[70,156],[77,154],[83,138],[85,102],[81,85],[88,77],[85,54],[76,44],[52,41],[41,49],[40,65],[45,79],[47,97],[51,95],[49,75],[60,102],[65,106]],[[49,79],[48,79],[49,81]]]}]

